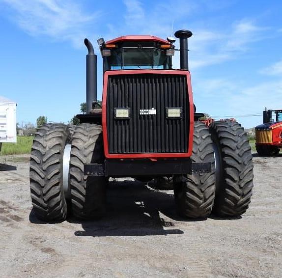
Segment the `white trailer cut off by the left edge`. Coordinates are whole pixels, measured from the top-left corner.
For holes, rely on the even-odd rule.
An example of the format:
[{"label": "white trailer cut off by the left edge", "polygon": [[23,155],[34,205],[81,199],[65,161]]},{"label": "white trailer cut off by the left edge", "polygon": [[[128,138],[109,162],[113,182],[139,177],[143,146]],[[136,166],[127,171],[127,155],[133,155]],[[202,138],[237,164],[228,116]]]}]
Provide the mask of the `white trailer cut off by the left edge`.
[{"label": "white trailer cut off by the left edge", "polygon": [[17,104],[0,96],[0,144],[17,142]]}]

